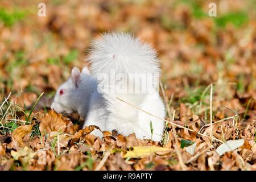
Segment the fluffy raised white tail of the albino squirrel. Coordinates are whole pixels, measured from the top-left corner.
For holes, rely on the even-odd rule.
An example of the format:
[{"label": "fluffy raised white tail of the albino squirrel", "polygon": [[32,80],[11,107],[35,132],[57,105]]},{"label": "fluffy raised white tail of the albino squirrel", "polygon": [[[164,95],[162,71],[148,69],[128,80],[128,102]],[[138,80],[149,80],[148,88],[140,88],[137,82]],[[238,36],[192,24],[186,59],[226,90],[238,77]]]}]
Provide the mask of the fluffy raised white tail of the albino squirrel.
[{"label": "fluffy raised white tail of the albino squirrel", "polygon": [[88,60],[93,77],[112,105],[110,110],[126,111],[126,117],[136,112],[127,110],[127,104],[122,107],[117,97],[139,106],[149,92],[158,88],[160,68],[155,50],[130,34],[102,35],[93,41]]}]

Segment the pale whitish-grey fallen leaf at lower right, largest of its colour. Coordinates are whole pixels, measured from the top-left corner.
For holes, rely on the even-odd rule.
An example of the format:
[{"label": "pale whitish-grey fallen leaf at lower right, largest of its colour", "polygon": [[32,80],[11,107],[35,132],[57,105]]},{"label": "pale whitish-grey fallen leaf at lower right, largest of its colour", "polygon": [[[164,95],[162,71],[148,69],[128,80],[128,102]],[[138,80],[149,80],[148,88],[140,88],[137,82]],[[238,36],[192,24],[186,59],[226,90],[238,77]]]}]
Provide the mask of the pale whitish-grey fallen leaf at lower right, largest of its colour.
[{"label": "pale whitish-grey fallen leaf at lower right, largest of its colour", "polygon": [[222,143],[218,148],[216,149],[216,152],[218,155],[223,155],[225,152],[233,151],[238,147],[241,147],[245,143],[245,140],[239,139],[239,140],[228,140],[225,143]]}]

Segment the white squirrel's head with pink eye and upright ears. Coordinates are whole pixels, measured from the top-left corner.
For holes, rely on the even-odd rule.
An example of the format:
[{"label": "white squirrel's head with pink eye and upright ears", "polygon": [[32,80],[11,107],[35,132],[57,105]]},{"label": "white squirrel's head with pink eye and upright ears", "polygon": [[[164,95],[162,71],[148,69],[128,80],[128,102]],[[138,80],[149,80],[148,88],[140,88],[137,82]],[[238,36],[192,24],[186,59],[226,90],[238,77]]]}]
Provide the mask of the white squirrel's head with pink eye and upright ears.
[{"label": "white squirrel's head with pink eye and upright ears", "polygon": [[51,109],[57,113],[67,114],[77,111],[81,82],[88,75],[90,75],[88,68],[84,67],[80,72],[77,67],[74,67],[71,71],[71,77],[57,89]]}]

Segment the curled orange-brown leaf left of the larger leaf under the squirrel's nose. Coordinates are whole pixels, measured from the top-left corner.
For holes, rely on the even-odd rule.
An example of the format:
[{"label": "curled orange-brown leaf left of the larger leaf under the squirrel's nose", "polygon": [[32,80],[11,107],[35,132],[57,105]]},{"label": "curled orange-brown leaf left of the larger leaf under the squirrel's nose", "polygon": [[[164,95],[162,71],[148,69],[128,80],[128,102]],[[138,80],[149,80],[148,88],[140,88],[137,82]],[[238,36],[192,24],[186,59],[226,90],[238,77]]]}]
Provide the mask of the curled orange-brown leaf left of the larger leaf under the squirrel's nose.
[{"label": "curled orange-brown leaf left of the larger leaf under the squirrel's nose", "polygon": [[16,140],[20,146],[24,146],[23,137],[30,133],[32,127],[33,125],[24,125],[17,127],[11,134],[12,139]]}]

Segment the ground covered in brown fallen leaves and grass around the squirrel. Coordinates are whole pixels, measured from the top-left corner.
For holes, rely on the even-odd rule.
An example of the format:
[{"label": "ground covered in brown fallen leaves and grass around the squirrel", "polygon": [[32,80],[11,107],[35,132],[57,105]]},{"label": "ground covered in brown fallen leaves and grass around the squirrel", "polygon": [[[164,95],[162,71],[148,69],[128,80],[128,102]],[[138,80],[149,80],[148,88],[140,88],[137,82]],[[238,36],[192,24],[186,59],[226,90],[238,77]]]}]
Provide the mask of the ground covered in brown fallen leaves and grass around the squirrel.
[{"label": "ground covered in brown fallen leaves and grass around the squirrel", "polygon": [[[0,170],[256,170],[255,1],[45,2],[46,17],[40,1],[0,2]],[[133,32],[159,52],[161,142],[97,138],[77,114],[49,109],[105,31]]]}]

